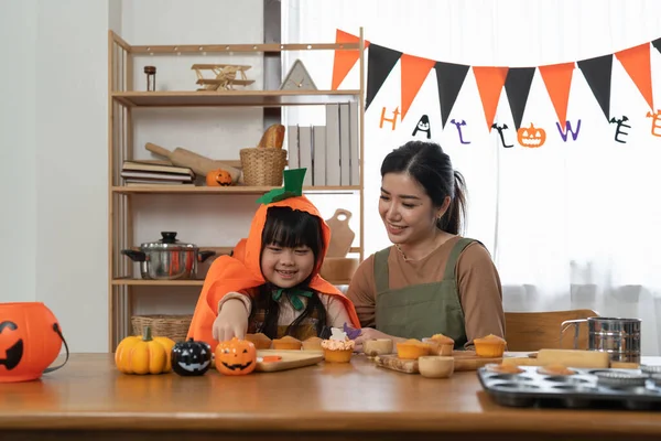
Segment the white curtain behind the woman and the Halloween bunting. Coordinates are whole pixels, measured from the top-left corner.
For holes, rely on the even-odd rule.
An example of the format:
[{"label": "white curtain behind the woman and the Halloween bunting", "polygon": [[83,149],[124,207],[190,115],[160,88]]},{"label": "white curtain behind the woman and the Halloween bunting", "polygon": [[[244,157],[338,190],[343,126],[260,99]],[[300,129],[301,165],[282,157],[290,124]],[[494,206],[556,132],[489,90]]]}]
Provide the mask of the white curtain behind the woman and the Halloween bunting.
[{"label": "white curtain behind the woman and the Halloween bunting", "polygon": [[[661,2],[654,0],[283,0],[283,42],[334,42],[336,29],[411,55],[470,66],[540,66],[611,54],[661,36]],[[369,49],[368,49],[369,51]],[[285,53],[286,54],[286,53]],[[288,54],[283,68],[301,58],[321,89],[330,88],[333,53]],[[366,56],[367,68],[367,56]],[[661,54],[651,47],[654,106],[661,108]],[[358,86],[358,65],[340,88]],[[628,117],[626,143],[614,140],[582,72],[574,71],[567,120],[581,131],[563,142],[543,80],[532,82],[522,126],[546,130],[539,149],[524,149],[513,130],[510,149],[489,132],[469,71],[442,129],[436,76],[430,73],[404,120],[379,128],[381,111],[400,106],[400,65],[365,116],[365,250],[387,246],[377,213],[379,166],[393,148],[412,139],[422,115],[466,178],[466,236],[491,251],[505,288],[506,311],[588,308],[603,316],[640,318],[646,355],[661,353],[661,137],[643,97],[621,64],[613,61],[610,115]],[[401,109],[401,107],[400,107]],[[318,121],[319,110],[290,109],[290,121]],[[323,111],[323,110],[322,110]],[[505,90],[496,122],[513,128]],[[421,138],[418,136],[416,138]],[[337,197],[343,197],[338,200]],[[328,197],[332,211],[344,196]],[[327,207],[326,207],[326,205]]]}]

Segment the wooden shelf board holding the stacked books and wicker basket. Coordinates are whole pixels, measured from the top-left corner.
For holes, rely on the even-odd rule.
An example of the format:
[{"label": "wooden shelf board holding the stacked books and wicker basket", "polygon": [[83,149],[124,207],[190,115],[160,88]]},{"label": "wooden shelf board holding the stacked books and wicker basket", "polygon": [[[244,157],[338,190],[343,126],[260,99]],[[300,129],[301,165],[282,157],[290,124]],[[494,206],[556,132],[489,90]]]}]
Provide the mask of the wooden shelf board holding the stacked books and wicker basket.
[{"label": "wooden shelf board holding the stacked books and wicker basket", "polygon": [[[133,194],[133,193],[162,193],[162,194],[263,194],[273,189],[273,186],[189,186],[189,185],[140,185],[140,186],[113,186],[112,193]],[[305,186],[304,192],[356,192],[358,185],[346,186]]]}]

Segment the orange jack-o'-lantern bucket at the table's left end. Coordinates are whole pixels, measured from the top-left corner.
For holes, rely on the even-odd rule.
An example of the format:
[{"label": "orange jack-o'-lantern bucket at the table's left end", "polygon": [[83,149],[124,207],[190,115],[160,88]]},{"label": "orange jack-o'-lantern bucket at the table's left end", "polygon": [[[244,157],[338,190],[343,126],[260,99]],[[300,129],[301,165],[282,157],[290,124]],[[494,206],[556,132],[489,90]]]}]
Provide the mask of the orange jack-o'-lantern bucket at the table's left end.
[{"label": "orange jack-o'-lantern bucket at the table's left end", "polygon": [[[48,367],[66,348],[63,364]],[[57,319],[41,302],[0,303],[0,383],[30,381],[59,369],[68,346]]]}]

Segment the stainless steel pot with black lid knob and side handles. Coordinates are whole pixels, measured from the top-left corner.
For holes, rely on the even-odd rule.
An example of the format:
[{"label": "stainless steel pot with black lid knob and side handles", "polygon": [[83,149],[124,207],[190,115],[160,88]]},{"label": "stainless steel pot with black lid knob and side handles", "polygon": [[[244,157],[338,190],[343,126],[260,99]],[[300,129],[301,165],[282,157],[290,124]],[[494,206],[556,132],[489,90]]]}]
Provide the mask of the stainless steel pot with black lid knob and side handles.
[{"label": "stainless steel pot with black lid knob and side handles", "polygon": [[140,245],[140,251],[122,249],[121,254],[140,262],[140,276],[152,280],[195,279],[197,263],[216,251],[201,251],[194,244],[176,239],[175,232],[161,232],[162,239]]}]

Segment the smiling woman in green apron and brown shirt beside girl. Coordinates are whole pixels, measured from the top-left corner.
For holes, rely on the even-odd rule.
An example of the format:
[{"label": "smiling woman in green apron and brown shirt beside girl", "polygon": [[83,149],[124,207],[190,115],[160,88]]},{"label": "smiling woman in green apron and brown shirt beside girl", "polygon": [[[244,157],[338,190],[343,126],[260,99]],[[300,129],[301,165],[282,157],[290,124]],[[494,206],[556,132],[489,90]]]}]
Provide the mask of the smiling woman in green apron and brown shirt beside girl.
[{"label": "smiling woman in green apron and brown shirt beside girl", "polygon": [[347,297],[362,330],[356,340],[444,334],[455,348],[505,337],[502,289],[487,249],[459,236],[464,180],[433,142],[410,141],[381,164],[379,214],[392,246],[361,262]]}]

